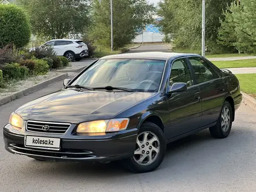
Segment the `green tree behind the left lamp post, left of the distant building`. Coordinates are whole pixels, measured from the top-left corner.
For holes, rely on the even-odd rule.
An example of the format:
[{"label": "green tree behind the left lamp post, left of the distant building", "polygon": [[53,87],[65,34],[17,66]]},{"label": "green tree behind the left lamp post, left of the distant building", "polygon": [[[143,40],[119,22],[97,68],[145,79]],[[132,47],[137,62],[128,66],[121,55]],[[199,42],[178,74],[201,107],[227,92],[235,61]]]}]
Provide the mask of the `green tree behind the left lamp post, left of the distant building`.
[{"label": "green tree behind the left lamp post, left of the distant building", "polygon": [[[152,22],[154,6],[146,0],[113,1],[113,46],[114,49],[129,44],[141,28]],[[101,47],[111,46],[111,10],[109,0],[94,0],[92,25],[88,38]]]}]

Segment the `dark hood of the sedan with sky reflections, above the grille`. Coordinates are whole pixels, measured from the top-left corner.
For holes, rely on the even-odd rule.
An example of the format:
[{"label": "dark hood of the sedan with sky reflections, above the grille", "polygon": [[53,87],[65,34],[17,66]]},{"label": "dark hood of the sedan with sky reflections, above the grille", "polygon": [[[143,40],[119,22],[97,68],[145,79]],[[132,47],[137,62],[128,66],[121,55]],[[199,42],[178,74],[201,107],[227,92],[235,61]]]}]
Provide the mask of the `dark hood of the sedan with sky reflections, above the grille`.
[{"label": "dark hood of the sedan with sky reflections, above the grille", "polygon": [[15,112],[24,120],[81,123],[112,118],[153,94],[67,89],[35,99]]}]

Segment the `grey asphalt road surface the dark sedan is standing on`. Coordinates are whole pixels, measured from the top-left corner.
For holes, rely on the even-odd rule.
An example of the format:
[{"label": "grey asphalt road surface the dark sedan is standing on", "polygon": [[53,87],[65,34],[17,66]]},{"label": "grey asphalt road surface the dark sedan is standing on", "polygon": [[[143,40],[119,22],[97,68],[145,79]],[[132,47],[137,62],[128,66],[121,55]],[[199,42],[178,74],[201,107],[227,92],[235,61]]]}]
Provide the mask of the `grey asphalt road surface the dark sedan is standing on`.
[{"label": "grey asphalt road surface the dark sedan is standing on", "polygon": [[[0,126],[20,105],[62,82],[0,106]],[[0,191],[256,191],[256,112],[241,105],[230,136],[208,130],[168,144],[157,170],[134,174],[118,163],[40,162],[5,151],[0,131]]]}]

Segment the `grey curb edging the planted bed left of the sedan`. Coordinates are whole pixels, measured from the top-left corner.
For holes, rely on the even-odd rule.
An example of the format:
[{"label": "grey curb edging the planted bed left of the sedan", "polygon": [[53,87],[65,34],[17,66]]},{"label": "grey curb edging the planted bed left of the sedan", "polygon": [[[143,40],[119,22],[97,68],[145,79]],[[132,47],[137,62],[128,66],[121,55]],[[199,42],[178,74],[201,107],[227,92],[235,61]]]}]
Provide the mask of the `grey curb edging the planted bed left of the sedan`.
[{"label": "grey curb edging the planted bed left of the sedan", "polygon": [[41,83],[35,84],[32,87],[24,88],[23,90],[17,91],[15,93],[11,94],[11,95],[7,95],[7,96],[0,99],[0,106],[4,105],[4,104],[7,104],[10,101],[14,101],[16,99],[19,99],[19,98],[22,98],[26,95],[29,95],[29,94],[31,94],[35,91],[40,90],[41,88],[49,86],[50,84],[61,81],[61,80],[65,79],[66,77],[68,77],[67,73],[60,74],[59,76],[52,77],[51,79],[48,79],[48,80],[43,81]]}]

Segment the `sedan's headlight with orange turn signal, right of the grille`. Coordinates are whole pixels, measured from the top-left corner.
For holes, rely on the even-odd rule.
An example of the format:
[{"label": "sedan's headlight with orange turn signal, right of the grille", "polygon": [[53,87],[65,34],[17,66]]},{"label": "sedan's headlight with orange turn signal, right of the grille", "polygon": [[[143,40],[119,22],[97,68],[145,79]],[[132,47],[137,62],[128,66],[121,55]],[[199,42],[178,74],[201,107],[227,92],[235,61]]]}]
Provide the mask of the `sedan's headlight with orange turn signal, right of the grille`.
[{"label": "sedan's headlight with orange turn signal, right of the grille", "polygon": [[95,120],[93,122],[80,123],[77,133],[105,133],[125,130],[129,119]]}]

